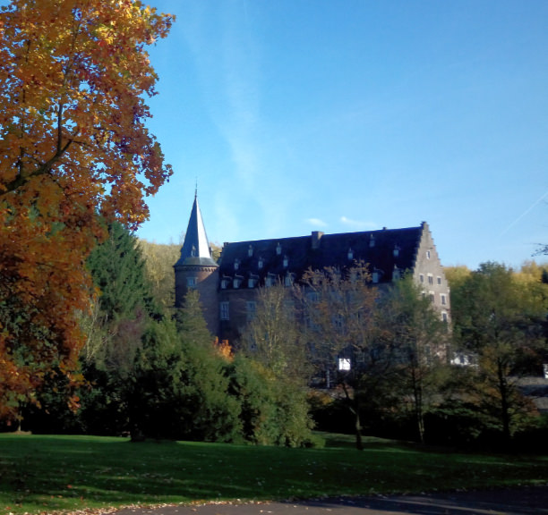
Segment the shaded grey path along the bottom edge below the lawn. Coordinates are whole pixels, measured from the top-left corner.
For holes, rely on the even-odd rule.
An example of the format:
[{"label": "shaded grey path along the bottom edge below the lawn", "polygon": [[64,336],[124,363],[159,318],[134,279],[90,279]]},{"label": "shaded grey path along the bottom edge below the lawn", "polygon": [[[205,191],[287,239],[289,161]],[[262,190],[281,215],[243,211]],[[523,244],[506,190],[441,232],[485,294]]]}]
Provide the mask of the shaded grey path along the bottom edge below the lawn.
[{"label": "shaded grey path along the bottom edge below the lawn", "polygon": [[544,515],[548,485],[511,490],[125,509],[116,515]]}]

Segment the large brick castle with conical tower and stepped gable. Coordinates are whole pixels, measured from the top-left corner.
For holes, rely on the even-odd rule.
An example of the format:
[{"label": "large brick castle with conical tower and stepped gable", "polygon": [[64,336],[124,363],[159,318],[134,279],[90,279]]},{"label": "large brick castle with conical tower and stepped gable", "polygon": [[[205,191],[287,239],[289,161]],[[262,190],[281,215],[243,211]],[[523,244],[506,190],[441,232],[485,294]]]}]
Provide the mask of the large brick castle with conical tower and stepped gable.
[{"label": "large brick castle with conical tower and stepped gable", "polygon": [[343,232],[225,243],[219,263],[211,258],[198,198],[175,267],[176,305],[189,288],[200,292],[204,317],[219,340],[234,342],[253,317],[257,289],[277,282],[298,283],[308,269],[341,271],[364,262],[372,283],[390,284],[406,272],[450,319],[450,289],[428,224],[405,229]]}]

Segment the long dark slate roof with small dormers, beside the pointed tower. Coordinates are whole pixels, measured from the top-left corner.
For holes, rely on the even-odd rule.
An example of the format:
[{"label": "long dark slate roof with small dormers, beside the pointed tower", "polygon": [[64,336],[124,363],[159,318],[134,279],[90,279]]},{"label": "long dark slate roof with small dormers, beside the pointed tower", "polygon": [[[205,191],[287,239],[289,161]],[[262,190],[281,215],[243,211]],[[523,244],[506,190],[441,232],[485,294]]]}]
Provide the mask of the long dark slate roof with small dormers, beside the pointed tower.
[{"label": "long dark slate roof with small dormers, beside the pointed tower", "polygon": [[[313,232],[295,238],[225,243],[219,278],[237,275],[247,280],[253,275],[257,285],[261,285],[269,274],[283,280],[290,273],[293,280],[299,281],[309,268],[321,270],[334,266],[344,271],[355,265],[355,261],[363,261],[369,264],[370,272],[378,272],[379,283],[390,282],[395,267],[400,272],[414,269],[424,225],[338,234]],[[227,282],[225,287],[230,289],[233,285]]]}]

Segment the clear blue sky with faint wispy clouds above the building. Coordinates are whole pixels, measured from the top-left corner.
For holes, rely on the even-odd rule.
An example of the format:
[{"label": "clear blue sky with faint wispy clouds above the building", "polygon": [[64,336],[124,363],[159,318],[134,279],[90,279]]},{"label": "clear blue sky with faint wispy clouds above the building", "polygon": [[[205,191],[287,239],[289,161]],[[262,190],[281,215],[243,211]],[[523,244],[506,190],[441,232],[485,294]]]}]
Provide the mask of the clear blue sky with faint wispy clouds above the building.
[{"label": "clear blue sky with faint wispy clouds above the building", "polygon": [[150,3],[175,173],[139,237],[178,242],[197,180],[219,244],[425,220],[475,268],[548,243],[545,0]]}]

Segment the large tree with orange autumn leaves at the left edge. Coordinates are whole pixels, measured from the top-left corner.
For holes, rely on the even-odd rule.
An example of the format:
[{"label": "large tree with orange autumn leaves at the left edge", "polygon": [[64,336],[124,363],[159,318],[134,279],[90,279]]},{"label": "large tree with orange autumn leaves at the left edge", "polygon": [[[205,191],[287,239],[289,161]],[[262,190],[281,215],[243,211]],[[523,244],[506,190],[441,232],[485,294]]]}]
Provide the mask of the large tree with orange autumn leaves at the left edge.
[{"label": "large tree with orange autumn leaves at the left edge", "polygon": [[147,45],[171,17],[139,0],[12,0],[0,13],[0,417],[53,367],[71,376],[98,213],[134,227],[171,171],[146,128]]}]

